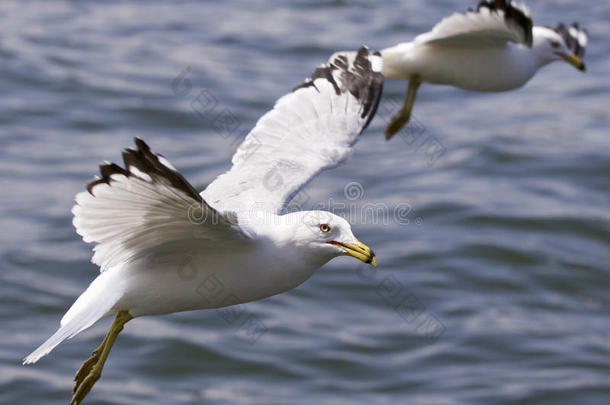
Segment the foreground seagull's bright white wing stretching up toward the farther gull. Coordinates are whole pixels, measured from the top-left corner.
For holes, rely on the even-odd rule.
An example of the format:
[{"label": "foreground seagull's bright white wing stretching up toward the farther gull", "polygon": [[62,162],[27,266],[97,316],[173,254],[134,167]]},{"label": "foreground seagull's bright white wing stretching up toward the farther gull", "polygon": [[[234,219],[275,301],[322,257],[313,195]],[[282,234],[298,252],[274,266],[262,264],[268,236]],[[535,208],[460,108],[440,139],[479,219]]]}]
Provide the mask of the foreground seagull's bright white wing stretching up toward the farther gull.
[{"label": "foreground seagull's bright white wing stretching up toward the farther gull", "polygon": [[333,56],[259,119],[203,198],[219,211],[281,213],[314,176],[349,156],[375,115],[382,69],[379,52],[366,47]]}]

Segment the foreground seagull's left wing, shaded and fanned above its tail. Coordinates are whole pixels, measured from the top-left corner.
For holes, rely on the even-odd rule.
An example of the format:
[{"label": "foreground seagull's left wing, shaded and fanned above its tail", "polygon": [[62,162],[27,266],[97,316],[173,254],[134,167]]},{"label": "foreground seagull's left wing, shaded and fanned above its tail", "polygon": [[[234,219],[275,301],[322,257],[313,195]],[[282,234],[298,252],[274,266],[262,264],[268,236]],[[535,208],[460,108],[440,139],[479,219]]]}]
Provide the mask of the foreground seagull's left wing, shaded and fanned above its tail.
[{"label": "foreground seagull's left wing, shaded and fanned above its tail", "polygon": [[239,234],[234,220],[211,208],[161,155],[136,138],[125,168],[100,166],[101,178],[76,195],[76,232],[95,242],[91,261],[103,272],[154,250]]}]

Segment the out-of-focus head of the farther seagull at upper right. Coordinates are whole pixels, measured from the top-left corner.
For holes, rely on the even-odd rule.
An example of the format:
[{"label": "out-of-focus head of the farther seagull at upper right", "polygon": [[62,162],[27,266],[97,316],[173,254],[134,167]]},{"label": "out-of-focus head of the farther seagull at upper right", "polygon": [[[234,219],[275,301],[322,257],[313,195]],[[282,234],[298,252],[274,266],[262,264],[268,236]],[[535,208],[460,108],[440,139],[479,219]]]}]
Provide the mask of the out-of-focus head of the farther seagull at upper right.
[{"label": "out-of-focus head of the farther seagull at upper right", "polygon": [[587,46],[587,32],[577,23],[567,28],[559,24],[557,28],[534,27],[533,50],[541,65],[563,60],[580,71],[586,71],[583,56]]}]

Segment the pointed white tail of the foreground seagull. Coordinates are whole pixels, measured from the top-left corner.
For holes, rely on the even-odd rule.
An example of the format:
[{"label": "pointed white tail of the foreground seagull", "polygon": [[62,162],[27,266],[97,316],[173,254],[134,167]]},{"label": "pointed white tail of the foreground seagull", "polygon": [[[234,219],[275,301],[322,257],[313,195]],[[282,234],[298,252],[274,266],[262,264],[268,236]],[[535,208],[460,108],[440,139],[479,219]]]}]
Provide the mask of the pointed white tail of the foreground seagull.
[{"label": "pointed white tail of the foreground seagull", "polygon": [[58,344],[87,329],[112,309],[122,294],[113,291],[109,273],[104,272],[93,280],[61,319],[57,332],[23,359],[23,364],[36,363]]}]

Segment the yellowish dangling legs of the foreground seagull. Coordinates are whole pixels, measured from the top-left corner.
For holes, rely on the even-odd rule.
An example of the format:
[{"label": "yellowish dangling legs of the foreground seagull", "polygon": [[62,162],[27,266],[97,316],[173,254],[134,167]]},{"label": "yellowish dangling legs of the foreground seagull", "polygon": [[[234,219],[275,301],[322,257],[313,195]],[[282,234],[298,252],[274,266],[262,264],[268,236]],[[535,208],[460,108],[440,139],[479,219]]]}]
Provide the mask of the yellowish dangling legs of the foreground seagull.
[{"label": "yellowish dangling legs of the foreground seagull", "polygon": [[102,340],[102,344],[93,351],[91,357],[89,357],[76,372],[76,375],[74,376],[74,388],[72,389],[74,395],[72,396],[70,405],[80,404],[83,398],[91,391],[95,382],[102,375],[104,363],[106,363],[106,359],[108,358],[114,341],[123,330],[123,326],[131,319],[132,316],[129,315],[129,312],[127,311],[119,311],[116,314],[106,337]]}]

